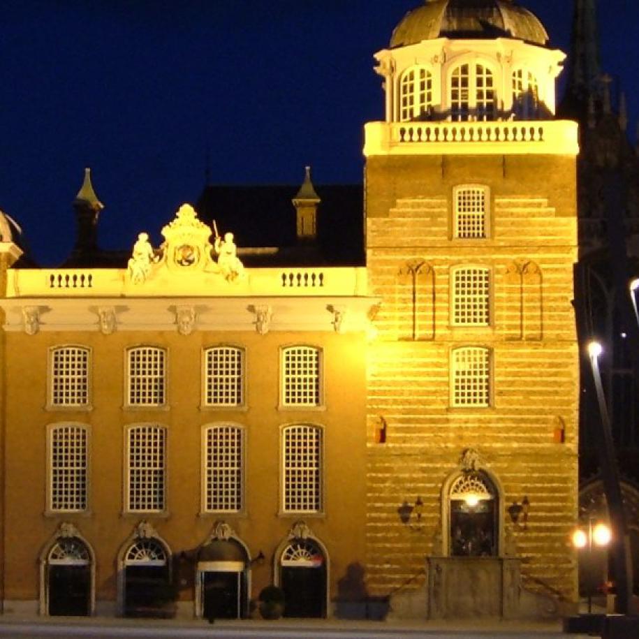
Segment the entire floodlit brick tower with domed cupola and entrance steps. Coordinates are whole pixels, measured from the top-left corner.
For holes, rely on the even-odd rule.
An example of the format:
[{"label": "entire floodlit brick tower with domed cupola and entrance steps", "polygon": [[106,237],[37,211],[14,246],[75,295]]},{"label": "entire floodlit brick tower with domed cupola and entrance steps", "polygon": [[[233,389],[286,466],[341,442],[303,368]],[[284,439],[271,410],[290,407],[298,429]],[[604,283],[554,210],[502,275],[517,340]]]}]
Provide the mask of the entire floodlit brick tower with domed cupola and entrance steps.
[{"label": "entire floodlit brick tower with domed cupola and entrance steps", "polygon": [[578,142],[547,43],[510,1],[431,0],[375,55],[367,580],[399,614],[576,598]]}]

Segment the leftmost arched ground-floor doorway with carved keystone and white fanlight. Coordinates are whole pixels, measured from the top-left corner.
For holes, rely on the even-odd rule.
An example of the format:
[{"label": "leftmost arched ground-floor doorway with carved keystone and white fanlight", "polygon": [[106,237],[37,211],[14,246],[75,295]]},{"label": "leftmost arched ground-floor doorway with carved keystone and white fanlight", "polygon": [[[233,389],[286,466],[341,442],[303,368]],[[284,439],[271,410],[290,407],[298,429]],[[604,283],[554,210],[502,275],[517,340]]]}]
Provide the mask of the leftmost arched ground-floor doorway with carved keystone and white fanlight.
[{"label": "leftmost arched ground-floor doorway with carved keystone and white fanlight", "polygon": [[87,617],[93,610],[94,558],[89,545],[71,524],[62,524],[41,557],[41,612]]}]

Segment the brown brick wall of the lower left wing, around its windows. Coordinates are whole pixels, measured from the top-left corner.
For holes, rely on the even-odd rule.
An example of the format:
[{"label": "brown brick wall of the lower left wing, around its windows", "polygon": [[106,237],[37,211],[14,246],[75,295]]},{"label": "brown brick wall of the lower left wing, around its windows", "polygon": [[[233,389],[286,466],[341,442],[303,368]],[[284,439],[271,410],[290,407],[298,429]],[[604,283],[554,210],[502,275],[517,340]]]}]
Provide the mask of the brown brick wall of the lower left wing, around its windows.
[{"label": "brown brick wall of the lower left wing, around its windows", "polygon": [[[205,541],[216,520],[230,523],[253,556],[267,561],[253,568],[257,596],[272,582],[273,554],[296,520],[304,520],[330,554],[330,594],[348,564],[364,557],[365,521],[365,349],[360,334],[335,332],[24,332],[7,334],[6,439],[6,600],[38,598],[37,559],[60,522],[73,522],[96,553],[96,590],[100,601],[114,600],[116,557],[140,520],[152,522],[178,555]],[[200,409],[201,351],[214,344],[247,349],[247,409]],[[47,349],[83,344],[92,351],[90,412],[45,409]],[[168,349],[166,410],[126,410],[123,405],[124,351],[154,344]],[[323,348],[324,404],[318,410],[279,410],[279,348],[311,344]],[[46,431],[71,420],[91,425],[90,513],[45,516]],[[201,427],[231,421],[247,428],[245,515],[199,515]],[[168,517],[122,514],[124,426],[157,422],[168,427]],[[324,514],[279,515],[280,427],[291,423],[323,425]],[[193,564],[183,564],[181,598],[193,597]],[[191,609],[192,610],[192,609]],[[188,612],[188,611],[187,611]],[[192,612],[191,612],[192,614]]]}]

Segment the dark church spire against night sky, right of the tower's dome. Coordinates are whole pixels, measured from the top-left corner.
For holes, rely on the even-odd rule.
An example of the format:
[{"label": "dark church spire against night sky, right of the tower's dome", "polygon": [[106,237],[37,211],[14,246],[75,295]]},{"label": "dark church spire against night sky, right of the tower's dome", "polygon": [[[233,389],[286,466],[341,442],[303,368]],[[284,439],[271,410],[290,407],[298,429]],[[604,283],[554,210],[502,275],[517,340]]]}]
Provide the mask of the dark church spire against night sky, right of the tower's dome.
[{"label": "dark church spire against night sky, right of the tower's dome", "polygon": [[596,13],[596,0],[575,0],[568,93],[582,100],[598,93],[601,75]]}]

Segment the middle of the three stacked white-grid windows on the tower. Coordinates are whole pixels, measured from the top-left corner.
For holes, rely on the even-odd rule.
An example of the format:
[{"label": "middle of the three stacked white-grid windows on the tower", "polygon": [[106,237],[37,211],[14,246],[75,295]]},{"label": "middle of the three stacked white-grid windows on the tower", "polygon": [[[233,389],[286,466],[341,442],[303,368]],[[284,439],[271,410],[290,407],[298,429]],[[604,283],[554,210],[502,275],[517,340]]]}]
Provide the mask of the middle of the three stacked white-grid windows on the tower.
[{"label": "middle of the three stacked white-grid windows on the tower", "polygon": [[480,267],[453,270],[453,324],[487,326],[489,309],[490,270]]}]

